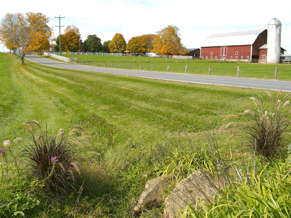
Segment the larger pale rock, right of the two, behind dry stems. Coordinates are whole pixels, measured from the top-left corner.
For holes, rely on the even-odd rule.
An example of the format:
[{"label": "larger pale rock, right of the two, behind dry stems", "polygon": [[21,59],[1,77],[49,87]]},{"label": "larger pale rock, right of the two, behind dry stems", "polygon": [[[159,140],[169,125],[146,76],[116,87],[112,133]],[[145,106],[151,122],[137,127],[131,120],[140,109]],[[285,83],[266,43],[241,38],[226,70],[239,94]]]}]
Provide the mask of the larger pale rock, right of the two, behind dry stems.
[{"label": "larger pale rock, right of the two, behind dry stems", "polygon": [[183,211],[186,205],[195,205],[195,201],[204,198],[205,194],[212,196],[215,190],[212,184],[207,171],[196,170],[180,181],[166,197],[164,213],[169,217],[178,218],[178,209]]}]

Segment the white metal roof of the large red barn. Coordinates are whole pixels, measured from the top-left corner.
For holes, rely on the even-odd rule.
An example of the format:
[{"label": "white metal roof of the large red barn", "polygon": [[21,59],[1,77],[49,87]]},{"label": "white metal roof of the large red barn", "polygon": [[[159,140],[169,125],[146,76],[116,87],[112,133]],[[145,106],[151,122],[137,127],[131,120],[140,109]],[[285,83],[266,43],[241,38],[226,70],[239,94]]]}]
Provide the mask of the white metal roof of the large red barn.
[{"label": "white metal roof of the large red barn", "polygon": [[258,35],[265,30],[266,29],[211,34],[204,40],[200,47],[252,45]]}]

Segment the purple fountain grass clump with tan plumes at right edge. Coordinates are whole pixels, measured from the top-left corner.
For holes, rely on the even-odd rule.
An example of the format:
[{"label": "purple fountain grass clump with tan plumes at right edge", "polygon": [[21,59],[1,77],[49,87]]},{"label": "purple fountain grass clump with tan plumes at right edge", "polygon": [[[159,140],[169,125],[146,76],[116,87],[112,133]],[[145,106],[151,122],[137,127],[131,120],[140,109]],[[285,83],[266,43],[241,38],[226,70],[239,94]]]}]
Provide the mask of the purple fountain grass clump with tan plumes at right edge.
[{"label": "purple fountain grass clump with tan plumes at right edge", "polygon": [[[282,87],[283,89],[283,87]],[[257,111],[246,110],[239,115],[226,115],[224,119],[240,118],[249,119],[250,122],[230,122],[226,127],[233,124],[233,126],[243,125],[244,134],[234,134],[229,139],[235,136],[241,136],[244,139],[243,146],[251,150],[253,153],[261,155],[269,160],[274,160],[278,156],[285,156],[286,149],[289,144],[289,135],[291,122],[288,121],[291,110],[287,109],[287,106],[291,106],[290,101],[286,99],[291,95],[288,94],[283,101],[281,101],[280,95],[282,89],[278,93],[275,101],[273,101],[272,95],[268,91],[264,91],[268,94],[271,104],[265,106],[263,99],[260,95],[259,101],[255,98],[250,98],[257,106]],[[269,106],[270,105],[270,106]]]}]

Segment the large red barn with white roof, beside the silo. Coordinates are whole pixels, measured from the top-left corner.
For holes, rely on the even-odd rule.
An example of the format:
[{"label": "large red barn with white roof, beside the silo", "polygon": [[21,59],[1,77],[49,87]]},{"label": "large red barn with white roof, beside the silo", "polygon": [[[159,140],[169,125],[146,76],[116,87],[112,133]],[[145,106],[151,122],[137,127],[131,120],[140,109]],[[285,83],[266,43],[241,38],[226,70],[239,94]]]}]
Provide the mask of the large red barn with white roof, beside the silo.
[{"label": "large red barn with white roof, beside the silo", "polygon": [[260,47],[267,44],[267,30],[217,33],[201,45],[201,59],[259,59]]}]

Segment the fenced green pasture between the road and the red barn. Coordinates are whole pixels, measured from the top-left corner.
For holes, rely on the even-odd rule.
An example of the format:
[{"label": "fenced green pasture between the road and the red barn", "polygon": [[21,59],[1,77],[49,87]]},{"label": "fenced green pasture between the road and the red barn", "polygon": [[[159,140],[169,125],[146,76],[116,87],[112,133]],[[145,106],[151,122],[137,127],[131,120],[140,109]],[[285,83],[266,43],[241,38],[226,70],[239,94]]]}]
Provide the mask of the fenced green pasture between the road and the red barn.
[{"label": "fenced green pasture between the road and the red barn", "polygon": [[[62,55],[66,56],[66,55]],[[50,58],[58,60],[48,56],[42,56],[44,58]],[[66,56],[67,57],[67,56]],[[70,56],[71,57],[71,56]],[[261,79],[274,79],[275,68],[278,67],[277,80],[291,80],[291,65],[288,64],[257,64],[257,63],[244,63],[244,62],[223,62],[219,60],[196,60],[196,59],[175,59],[175,58],[155,58],[155,57],[133,57],[133,56],[106,56],[106,55],[74,55],[81,60],[81,65],[99,66],[104,67],[104,64],[108,68],[130,69],[151,71],[153,65],[153,71],[166,72],[169,65],[170,73],[185,73],[185,66],[187,65],[188,74],[207,75],[209,65],[211,66],[210,75],[212,76],[237,76],[237,66],[240,67],[239,77],[244,78],[261,78]],[[87,60],[88,58],[88,60]],[[115,61],[114,61],[115,60]],[[60,60],[58,60],[60,61]],[[198,61],[198,62],[197,62]],[[89,62],[89,63],[88,63]],[[78,63],[80,64],[80,63]],[[121,66],[120,66],[121,65]]]}]

